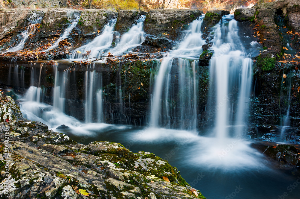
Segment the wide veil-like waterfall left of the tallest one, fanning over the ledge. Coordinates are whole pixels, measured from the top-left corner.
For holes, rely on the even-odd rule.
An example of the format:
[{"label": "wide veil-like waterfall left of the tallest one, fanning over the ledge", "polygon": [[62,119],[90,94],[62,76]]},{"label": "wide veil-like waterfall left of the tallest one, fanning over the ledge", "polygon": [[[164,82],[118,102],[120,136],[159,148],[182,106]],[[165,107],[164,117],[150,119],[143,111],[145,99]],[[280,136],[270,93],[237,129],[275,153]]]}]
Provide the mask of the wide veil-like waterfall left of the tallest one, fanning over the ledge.
[{"label": "wide veil-like waterfall left of the tallest one, fanning over the ledge", "polygon": [[[152,127],[196,129],[202,18],[194,20],[176,50],[163,58],[155,75],[151,107]],[[179,126],[178,126],[179,125]]]}]

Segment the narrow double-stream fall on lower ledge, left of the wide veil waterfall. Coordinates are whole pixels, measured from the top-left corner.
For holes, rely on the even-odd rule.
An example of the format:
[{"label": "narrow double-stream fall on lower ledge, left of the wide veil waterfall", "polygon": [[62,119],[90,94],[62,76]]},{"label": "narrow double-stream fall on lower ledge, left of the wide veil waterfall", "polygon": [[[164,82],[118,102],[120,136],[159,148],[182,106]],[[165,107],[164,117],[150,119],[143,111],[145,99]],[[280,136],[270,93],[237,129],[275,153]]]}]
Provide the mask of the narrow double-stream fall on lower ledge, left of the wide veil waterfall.
[{"label": "narrow double-stream fall on lower ledge, left of the wide veil waterfall", "polygon": [[[103,122],[102,73],[96,72],[95,64],[85,71],[85,122]],[[95,109],[95,107],[97,109]]]}]

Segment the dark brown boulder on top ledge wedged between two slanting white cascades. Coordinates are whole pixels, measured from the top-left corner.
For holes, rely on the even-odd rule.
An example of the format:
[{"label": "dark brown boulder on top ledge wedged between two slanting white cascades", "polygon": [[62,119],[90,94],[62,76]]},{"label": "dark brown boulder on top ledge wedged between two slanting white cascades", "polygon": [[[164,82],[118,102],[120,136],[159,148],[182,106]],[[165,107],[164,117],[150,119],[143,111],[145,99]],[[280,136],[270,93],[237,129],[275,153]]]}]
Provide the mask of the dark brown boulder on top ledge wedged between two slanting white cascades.
[{"label": "dark brown boulder on top ledge wedged between two slanting white cascades", "polygon": [[140,13],[137,10],[120,10],[115,30],[124,34],[134,24],[137,24],[138,19],[140,19]]}]

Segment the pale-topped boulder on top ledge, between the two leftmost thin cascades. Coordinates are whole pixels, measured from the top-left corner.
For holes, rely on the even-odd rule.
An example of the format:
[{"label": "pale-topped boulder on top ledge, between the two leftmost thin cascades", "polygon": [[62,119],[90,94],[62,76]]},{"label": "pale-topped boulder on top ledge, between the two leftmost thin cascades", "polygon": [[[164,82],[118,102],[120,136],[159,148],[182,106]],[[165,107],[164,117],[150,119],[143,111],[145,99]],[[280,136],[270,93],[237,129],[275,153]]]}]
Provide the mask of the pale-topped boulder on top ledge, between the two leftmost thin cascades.
[{"label": "pale-topped boulder on top ledge, between the two leftmost thin cascades", "polygon": [[74,9],[48,9],[41,22],[41,30],[65,29],[72,22],[79,20],[81,10]]}]

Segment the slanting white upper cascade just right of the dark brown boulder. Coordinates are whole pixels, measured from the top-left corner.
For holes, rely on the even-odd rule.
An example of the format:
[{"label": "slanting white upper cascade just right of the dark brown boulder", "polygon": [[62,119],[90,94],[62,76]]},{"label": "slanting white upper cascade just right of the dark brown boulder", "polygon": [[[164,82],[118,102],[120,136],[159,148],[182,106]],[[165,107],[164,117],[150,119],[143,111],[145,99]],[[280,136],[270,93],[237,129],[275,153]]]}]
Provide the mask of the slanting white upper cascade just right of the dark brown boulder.
[{"label": "slanting white upper cascade just right of the dark brown boulder", "polygon": [[145,40],[143,25],[146,15],[141,16],[136,25],[133,25],[129,31],[121,36],[119,43],[111,49],[113,55],[120,55],[126,51],[131,51],[133,47],[142,44]]}]

